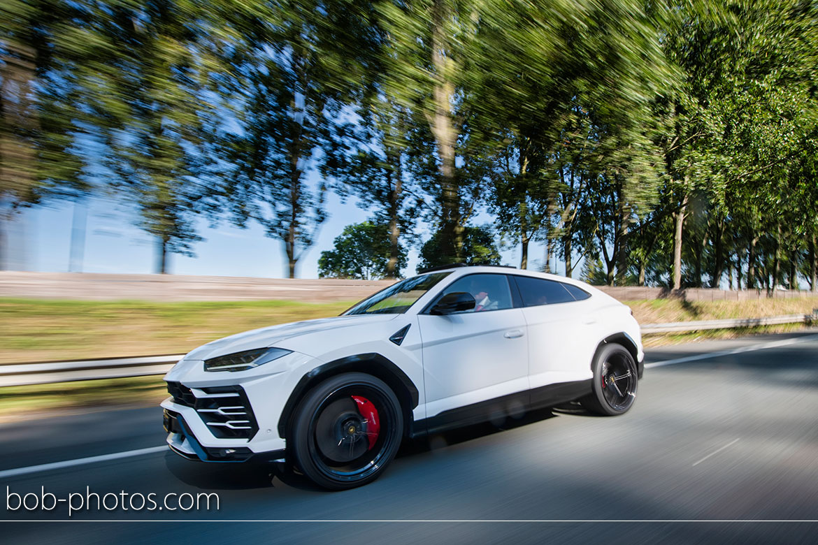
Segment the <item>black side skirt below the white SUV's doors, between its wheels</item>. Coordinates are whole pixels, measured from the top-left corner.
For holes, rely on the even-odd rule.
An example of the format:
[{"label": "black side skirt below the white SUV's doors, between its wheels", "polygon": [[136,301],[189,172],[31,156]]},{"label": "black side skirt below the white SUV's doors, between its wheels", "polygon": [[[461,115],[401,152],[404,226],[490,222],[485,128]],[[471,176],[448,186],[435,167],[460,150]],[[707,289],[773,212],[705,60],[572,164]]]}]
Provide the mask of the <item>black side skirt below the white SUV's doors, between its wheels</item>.
[{"label": "black side skirt below the white SUV's doors, between its wheels", "polygon": [[413,423],[411,437],[422,437],[430,433],[451,430],[456,427],[471,426],[480,422],[501,420],[508,416],[519,417],[537,409],[553,407],[566,401],[577,400],[591,393],[592,381],[557,382],[528,391],[503,395],[492,400],[449,409],[434,417]]}]

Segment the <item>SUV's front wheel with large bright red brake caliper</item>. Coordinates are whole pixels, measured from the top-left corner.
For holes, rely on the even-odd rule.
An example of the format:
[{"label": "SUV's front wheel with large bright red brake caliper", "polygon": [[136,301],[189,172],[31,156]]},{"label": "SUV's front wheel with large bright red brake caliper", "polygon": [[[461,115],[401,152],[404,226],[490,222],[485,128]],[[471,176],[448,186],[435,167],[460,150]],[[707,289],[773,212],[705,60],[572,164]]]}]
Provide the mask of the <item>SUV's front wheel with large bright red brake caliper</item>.
[{"label": "SUV's front wheel with large bright red brake caliper", "polygon": [[377,479],[402,436],[401,404],[389,386],[365,373],[344,373],[304,395],[287,444],[304,475],[326,489],[345,490]]}]

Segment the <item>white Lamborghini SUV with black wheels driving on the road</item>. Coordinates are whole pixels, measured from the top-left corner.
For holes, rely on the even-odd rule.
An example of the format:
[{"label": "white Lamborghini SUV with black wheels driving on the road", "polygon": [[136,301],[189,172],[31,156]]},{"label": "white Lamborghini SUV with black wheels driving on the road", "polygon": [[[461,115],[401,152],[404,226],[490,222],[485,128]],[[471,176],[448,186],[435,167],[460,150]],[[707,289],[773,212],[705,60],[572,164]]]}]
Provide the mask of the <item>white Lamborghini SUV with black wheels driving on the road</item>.
[{"label": "white Lamborghini SUV with black wheels driving on the road", "polygon": [[624,413],[643,369],[636,319],[596,288],[448,266],[335,318],[200,346],[165,375],[162,407],[186,458],[285,460],[347,489],[379,476],[404,437],[570,400]]}]

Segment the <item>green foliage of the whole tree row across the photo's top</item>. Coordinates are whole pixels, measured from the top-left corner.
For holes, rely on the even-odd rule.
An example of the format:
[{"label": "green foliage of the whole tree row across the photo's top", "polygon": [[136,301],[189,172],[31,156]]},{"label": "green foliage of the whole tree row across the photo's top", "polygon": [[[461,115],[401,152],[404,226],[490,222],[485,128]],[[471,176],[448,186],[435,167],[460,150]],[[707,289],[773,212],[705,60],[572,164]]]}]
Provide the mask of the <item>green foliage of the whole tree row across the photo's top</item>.
[{"label": "green foliage of the whole tree row across the photo's top", "polygon": [[160,270],[206,211],[258,222],[294,276],[331,188],[375,218],[342,242],[388,261],[327,274],[397,276],[420,218],[425,266],[497,262],[470,227],[486,210],[523,266],[545,241],[607,284],[816,284],[816,2],[7,0],[0,16],[0,230],[115,190]]}]

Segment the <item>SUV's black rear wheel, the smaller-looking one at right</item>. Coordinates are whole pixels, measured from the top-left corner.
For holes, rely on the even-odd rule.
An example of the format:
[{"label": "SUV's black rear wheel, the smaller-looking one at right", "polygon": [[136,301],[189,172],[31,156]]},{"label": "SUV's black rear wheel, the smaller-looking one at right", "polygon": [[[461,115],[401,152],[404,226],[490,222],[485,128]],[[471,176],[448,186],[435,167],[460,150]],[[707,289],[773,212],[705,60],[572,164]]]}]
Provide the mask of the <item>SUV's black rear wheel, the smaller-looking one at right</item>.
[{"label": "SUV's black rear wheel, the smaller-looking one at right", "polygon": [[609,343],[594,361],[593,392],[581,400],[582,406],[603,416],[627,413],[636,401],[638,385],[631,353],[622,345]]}]

